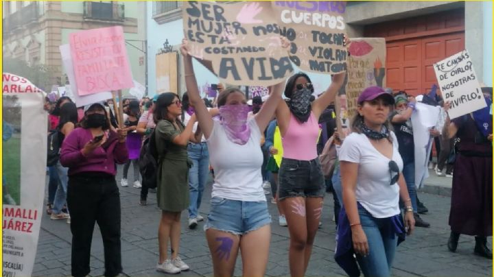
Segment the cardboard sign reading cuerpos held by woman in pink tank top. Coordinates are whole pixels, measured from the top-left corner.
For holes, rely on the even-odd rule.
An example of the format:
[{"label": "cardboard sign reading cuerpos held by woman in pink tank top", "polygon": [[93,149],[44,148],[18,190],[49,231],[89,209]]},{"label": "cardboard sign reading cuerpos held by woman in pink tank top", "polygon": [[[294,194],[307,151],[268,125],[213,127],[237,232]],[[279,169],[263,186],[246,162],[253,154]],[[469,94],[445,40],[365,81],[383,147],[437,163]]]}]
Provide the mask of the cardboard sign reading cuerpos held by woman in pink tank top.
[{"label": "cardboard sign reading cuerpos held by woman in pink tank top", "polygon": [[346,1],[274,1],[281,34],[292,46],[290,60],[303,71],[346,71]]}]

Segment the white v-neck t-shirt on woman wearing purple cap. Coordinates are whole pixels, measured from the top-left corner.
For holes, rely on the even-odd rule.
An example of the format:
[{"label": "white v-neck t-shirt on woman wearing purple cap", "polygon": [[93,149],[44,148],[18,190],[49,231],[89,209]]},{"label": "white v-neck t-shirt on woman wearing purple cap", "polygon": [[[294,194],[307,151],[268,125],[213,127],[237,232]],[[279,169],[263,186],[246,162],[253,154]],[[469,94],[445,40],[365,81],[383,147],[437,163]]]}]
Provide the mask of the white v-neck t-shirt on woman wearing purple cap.
[{"label": "white v-neck t-shirt on woman wearing purple cap", "polygon": [[[392,160],[397,163],[401,172],[403,160],[398,152],[398,140],[394,132],[390,136],[393,142]],[[347,136],[338,158],[359,164],[355,197],[373,217],[392,217],[400,213],[399,186],[390,185],[390,159],[377,151],[365,134],[351,133]],[[393,172],[392,176],[395,174]]]}]

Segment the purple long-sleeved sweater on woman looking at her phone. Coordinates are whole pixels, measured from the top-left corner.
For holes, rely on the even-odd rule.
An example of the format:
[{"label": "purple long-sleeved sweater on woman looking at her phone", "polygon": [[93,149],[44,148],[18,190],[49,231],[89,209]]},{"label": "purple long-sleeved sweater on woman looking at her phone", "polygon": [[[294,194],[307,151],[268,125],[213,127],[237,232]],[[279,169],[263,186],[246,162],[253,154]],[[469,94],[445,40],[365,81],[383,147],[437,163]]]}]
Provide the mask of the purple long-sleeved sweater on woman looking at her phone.
[{"label": "purple long-sleeved sweater on woman looking at her phone", "polygon": [[117,174],[115,162],[124,164],[128,160],[128,152],[125,143],[119,143],[117,133],[110,131],[106,142],[96,148],[87,157],[82,156],[84,145],[93,139],[89,129],[76,128],[62,143],[60,163],[69,167],[69,176],[82,172],[102,172],[113,176]]}]

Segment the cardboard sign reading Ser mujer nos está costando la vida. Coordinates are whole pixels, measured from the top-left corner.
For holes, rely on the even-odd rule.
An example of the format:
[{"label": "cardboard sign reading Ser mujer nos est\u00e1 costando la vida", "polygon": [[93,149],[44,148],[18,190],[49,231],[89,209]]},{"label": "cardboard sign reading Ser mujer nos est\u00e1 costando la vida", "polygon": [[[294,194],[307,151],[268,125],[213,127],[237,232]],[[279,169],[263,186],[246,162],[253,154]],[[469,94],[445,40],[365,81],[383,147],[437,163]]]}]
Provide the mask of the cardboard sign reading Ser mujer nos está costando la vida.
[{"label": "cardboard sign reading Ser mujer nos est\u00e1 costando la vida", "polygon": [[270,2],[185,1],[182,11],[191,55],[211,60],[222,82],[271,86],[292,74]]}]

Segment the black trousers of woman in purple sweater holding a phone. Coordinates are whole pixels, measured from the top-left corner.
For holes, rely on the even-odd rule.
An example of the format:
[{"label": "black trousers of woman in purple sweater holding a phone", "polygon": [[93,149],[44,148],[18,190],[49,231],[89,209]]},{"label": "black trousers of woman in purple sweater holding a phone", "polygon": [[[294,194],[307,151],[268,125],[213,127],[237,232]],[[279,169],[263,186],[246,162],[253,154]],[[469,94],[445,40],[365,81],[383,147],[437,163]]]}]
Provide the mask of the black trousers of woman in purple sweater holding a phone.
[{"label": "black trousers of woman in purple sweater holding a phone", "polygon": [[120,274],[120,193],[115,176],[91,172],[69,176],[67,204],[71,211],[72,275],[86,276],[90,272],[95,222],[103,238],[104,276]]}]

